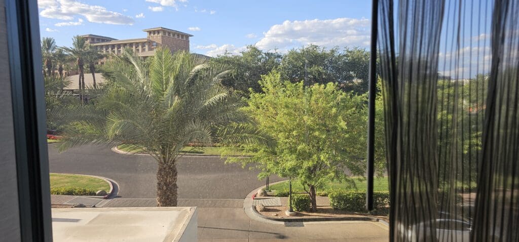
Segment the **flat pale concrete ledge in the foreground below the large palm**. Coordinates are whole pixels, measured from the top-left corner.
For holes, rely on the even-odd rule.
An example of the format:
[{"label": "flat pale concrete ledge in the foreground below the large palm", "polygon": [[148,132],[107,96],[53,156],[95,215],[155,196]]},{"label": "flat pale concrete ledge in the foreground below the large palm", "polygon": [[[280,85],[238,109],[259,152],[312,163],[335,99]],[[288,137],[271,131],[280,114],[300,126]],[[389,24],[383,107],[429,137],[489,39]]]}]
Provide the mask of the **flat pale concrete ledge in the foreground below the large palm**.
[{"label": "flat pale concrete ledge in the foreground below the large palm", "polygon": [[196,207],[53,208],[56,241],[197,241]]}]

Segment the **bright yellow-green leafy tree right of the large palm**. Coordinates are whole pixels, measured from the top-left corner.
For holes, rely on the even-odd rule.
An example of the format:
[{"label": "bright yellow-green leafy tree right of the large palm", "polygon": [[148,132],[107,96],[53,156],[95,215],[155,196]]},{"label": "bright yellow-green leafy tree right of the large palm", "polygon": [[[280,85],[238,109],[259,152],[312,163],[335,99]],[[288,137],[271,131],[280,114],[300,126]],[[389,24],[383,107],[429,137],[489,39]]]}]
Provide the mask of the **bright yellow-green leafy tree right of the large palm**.
[{"label": "bright yellow-green leafy tree right of the large palm", "polygon": [[303,82],[281,81],[278,72],[264,76],[260,84],[263,93],[252,93],[243,110],[274,142],[245,143],[254,155],[227,161],[255,164],[260,178],[297,179],[308,188],[316,211],[316,189],[346,180],[345,170],[364,175],[366,97],[345,93],[334,83],[305,88]]}]

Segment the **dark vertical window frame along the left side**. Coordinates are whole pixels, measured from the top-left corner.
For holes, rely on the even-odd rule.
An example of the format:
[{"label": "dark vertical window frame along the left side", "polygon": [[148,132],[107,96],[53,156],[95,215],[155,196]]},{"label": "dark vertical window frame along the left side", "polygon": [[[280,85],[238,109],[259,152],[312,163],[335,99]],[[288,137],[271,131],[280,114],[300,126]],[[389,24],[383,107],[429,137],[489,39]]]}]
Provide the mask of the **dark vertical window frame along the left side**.
[{"label": "dark vertical window frame along the left side", "polygon": [[5,1],[21,241],[52,241],[37,1]]}]

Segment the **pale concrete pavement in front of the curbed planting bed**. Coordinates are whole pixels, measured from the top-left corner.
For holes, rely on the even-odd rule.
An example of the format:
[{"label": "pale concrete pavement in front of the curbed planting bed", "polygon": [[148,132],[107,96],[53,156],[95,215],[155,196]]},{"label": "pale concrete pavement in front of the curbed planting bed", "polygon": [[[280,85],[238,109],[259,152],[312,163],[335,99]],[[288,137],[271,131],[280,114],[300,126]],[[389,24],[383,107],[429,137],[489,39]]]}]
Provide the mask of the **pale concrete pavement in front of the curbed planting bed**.
[{"label": "pale concrete pavement in front of the curbed planting bed", "polygon": [[239,208],[198,208],[198,241],[388,241],[379,222],[305,222],[285,227],[249,219]]}]

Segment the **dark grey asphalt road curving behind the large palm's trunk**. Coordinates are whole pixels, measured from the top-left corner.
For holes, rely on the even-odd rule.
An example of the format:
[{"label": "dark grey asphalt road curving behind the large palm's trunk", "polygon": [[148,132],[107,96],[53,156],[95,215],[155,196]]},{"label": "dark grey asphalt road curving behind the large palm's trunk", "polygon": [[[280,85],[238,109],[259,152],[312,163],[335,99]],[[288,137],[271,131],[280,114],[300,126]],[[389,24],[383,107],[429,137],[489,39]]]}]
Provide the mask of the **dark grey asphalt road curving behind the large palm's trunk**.
[{"label": "dark grey asphalt road curving behind the large palm's trunk", "polygon": [[[121,198],[156,197],[156,161],[147,155],[115,153],[107,146],[82,146],[58,153],[49,145],[52,173],[97,175],[115,180]],[[258,172],[225,164],[220,157],[184,156],[177,162],[179,198],[223,199],[244,198],[265,181]],[[270,182],[279,181],[271,177]]]}]

